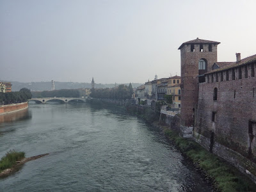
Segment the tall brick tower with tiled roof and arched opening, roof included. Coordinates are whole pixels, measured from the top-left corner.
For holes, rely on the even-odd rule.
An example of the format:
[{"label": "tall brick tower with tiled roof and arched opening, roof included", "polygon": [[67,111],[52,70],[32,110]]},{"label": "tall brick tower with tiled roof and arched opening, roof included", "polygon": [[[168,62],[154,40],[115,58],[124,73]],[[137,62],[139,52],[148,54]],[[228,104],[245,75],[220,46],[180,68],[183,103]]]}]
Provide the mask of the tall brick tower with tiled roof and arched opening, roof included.
[{"label": "tall brick tower with tiled roof and arched opening, roof included", "polygon": [[198,83],[204,82],[205,72],[212,70],[217,61],[220,42],[196,38],[180,45],[181,65],[181,120],[184,127],[193,127],[198,104]]}]

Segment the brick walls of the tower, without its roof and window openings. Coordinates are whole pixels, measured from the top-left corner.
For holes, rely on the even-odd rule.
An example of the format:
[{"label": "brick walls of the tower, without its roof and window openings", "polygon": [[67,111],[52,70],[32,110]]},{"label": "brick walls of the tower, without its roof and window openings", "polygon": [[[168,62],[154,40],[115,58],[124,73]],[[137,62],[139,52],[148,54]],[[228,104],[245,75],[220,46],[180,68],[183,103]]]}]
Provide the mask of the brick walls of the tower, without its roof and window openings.
[{"label": "brick walls of the tower, without its roof and window openings", "polygon": [[[181,54],[181,124],[194,125],[194,116],[198,102],[198,61],[206,61],[207,71],[211,71],[212,65],[217,61],[217,44],[212,44],[212,52],[199,51],[199,44],[195,44],[195,52],[190,52],[191,45],[184,45]],[[206,45],[204,45],[206,46]]]}]

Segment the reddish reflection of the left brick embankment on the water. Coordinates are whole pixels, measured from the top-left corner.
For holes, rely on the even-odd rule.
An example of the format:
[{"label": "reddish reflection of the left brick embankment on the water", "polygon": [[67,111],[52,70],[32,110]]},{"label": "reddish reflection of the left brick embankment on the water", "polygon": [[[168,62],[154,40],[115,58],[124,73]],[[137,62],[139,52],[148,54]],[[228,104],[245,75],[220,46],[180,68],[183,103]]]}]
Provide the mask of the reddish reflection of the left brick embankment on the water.
[{"label": "reddish reflection of the left brick embankment on the water", "polygon": [[27,108],[27,109],[23,109],[21,111],[8,113],[5,115],[0,115],[0,124],[20,121],[20,120],[27,120],[29,118],[32,118],[32,114],[31,114],[31,112],[29,112],[29,110]]}]

